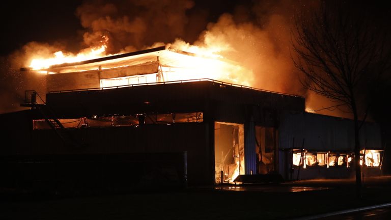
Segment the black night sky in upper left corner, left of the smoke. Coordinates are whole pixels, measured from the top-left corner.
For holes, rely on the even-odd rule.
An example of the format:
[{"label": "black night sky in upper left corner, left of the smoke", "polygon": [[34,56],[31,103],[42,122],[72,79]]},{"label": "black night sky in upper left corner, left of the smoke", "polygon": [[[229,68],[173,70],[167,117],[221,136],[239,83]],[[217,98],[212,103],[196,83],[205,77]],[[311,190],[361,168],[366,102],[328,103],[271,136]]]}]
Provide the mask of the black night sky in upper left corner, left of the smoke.
[{"label": "black night sky in upper left corner, left of the smoke", "polygon": [[1,56],[31,41],[52,42],[77,37],[75,10],[80,1],[10,1],[2,7]]}]

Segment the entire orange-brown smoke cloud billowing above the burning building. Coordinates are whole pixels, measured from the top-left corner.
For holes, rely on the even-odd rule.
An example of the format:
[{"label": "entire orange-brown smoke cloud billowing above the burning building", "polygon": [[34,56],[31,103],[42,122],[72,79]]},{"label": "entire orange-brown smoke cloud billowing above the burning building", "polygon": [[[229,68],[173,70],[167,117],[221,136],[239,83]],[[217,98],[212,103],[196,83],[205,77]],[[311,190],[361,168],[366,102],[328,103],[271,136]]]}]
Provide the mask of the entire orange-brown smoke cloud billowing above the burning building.
[{"label": "entire orange-brown smoke cloud billowing above the burning building", "polygon": [[[161,43],[218,46],[223,57],[252,70],[245,76],[251,86],[304,95],[290,58],[290,31],[295,10],[307,2],[238,1],[230,13],[216,15],[199,1],[97,0],[84,2],[75,14],[85,28],[80,49],[99,46],[102,36],[109,39],[107,54]],[[12,66],[29,66],[33,55],[52,57],[55,51],[67,51],[64,45],[31,42],[10,57]]]}]

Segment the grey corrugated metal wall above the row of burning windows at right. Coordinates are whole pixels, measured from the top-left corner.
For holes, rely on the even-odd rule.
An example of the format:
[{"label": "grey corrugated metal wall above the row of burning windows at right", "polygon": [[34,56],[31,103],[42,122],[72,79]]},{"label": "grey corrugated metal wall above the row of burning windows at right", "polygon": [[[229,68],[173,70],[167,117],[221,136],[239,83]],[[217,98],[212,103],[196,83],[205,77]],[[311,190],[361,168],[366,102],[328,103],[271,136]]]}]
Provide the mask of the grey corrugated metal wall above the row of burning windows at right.
[{"label": "grey corrugated metal wall above the row of burning windows at right", "polygon": [[[280,122],[280,149],[297,148],[319,151],[353,151],[352,120],[311,113],[284,113]],[[366,122],[360,130],[360,145],[381,149],[379,125]],[[294,143],[293,143],[294,139]]]}]

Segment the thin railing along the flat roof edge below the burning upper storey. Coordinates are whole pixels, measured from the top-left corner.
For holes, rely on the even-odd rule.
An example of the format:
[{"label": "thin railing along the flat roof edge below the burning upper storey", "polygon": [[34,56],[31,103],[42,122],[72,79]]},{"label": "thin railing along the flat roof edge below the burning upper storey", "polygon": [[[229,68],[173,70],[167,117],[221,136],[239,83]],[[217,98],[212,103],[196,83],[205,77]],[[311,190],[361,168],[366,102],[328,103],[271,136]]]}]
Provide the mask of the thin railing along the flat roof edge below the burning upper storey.
[{"label": "thin railing along the flat roof edge below the burning upper storey", "polygon": [[239,88],[245,88],[245,89],[252,89],[252,90],[256,90],[256,91],[276,93],[276,94],[281,94],[281,95],[288,95],[288,96],[294,96],[294,97],[301,97],[301,98],[303,98],[303,96],[299,96],[299,95],[293,95],[293,94],[282,93],[282,92],[275,92],[275,91],[270,91],[270,90],[263,90],[263,89],[258,89],[258,88],[249,87],[249,86],[243,86],[243,85],[239,85],[239,84],[232,84],[230,82],[224,82],[224,81],[219,81],[219,80],[210,79],[210,78],[184,79],[184,80],[163,81],[163,82],[145,82],[145,83],[142,83],[142,84],[131,84],[131,85],[123,85],[123,86],[90,88],[90,89],[58,90],[58,91],[49,91],[48,93],[64,93],[64,92],[105,90],[105,89],[119,89],[119,88],[136,87],[136,86],[165,85],[165,84],[176,84],[176,83],[197,82],[197,81],[211,81],[211,82],[220,84],[222,86],[233,86],[233,87],[239,87]]}]

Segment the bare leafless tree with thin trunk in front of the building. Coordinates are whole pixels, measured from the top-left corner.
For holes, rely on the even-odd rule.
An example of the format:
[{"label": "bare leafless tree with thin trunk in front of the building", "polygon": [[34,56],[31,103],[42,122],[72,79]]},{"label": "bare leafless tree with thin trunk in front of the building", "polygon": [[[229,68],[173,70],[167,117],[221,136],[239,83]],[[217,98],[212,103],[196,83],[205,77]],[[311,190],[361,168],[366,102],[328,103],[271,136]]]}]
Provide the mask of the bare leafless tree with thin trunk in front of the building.
[{"label": "bare leafless tree with thin trunk in front of the building", "polygon": [[292,59],[305,76],[301,82],[306,89],[336,101],[330,107],[347,106],[352,113],[357,195],[361,197],[359,129],[376,84],[389,70],[387,29],[359,7],[326,4],[310,15],[296,14]]}]

